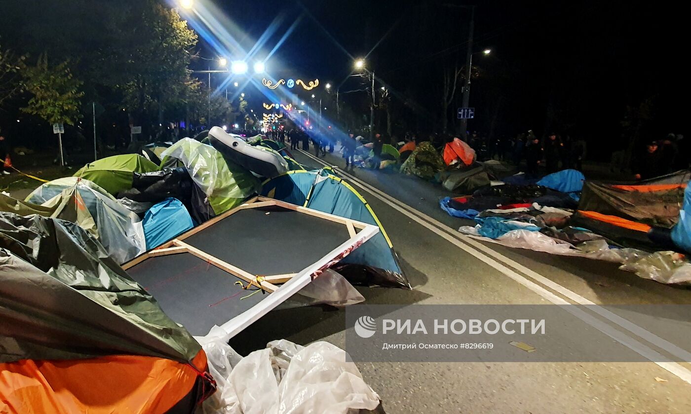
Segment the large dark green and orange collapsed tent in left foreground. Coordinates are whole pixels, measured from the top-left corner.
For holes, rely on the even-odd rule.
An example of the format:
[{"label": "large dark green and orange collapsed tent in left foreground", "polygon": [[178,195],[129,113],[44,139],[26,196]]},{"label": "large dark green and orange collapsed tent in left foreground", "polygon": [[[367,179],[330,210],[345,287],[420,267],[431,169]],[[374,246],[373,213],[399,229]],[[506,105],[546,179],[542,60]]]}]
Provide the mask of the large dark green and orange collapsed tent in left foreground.
[{"label": "large dark green and orange collapsed tent in left foreground", "polygon": [[193,413],[207,358],[73,223],[0,213],[0,401],[15,413]]}]

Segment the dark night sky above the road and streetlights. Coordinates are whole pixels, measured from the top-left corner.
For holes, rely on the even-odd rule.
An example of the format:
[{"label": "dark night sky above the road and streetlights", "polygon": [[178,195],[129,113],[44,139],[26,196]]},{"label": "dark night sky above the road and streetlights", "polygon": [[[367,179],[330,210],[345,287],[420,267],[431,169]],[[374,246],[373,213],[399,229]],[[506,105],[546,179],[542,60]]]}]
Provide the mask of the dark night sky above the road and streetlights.
[{"label": "dark night sky above the road and streetlights", "polygon": [[[214,3],[236,24],[229,32],[246,50],[277,19],[278,28],[263,48],[267,53],[300,19],[267,63],[277,78],[292,75],[340,84],[350,74],[352,57],[370,53],[368,66],[394,91],[401,108],[403,102],[414,104],[415,110],[401,109],[399,115],[422,118],[408,122],[409,129],[413,124],[435,129],[430,118],[441,111],[441,70],[465,62],[470,12],[452,6],[468,2]],[[480,78],[471,88],[471,106],[477,109],[471,129],[486,132],[495,116],[498,134],[555,130],[614,149],[627,140],[619,126],[626,106],[648,98],[656,102],[650,134],[661,135],[653,138],[686,129],[688,104],[680,96],[686,83],[680,62],[685,29],[673,6],[624,1],[477,4],[473,49],[491,48],[493,53],[475,55],[473,61]],[[202,55],[214,53],[202,46]],[[348,82],[343,88],[359,87],[357,79]]]}]

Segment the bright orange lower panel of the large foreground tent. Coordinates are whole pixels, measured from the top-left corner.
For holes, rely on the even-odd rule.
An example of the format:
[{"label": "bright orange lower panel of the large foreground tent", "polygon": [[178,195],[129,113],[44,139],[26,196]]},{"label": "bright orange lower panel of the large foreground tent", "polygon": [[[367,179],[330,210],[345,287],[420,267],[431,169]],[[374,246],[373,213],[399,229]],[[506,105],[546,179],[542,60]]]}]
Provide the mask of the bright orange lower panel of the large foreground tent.
[{"label": "bright orange lower panel of the large foreground tent", "polygon": [[[192,364],[207,369],[204,351]],[[22,359],[0,364],[0,412],[165,413],[192,391],[199,375],[190,364],[157,357]]]}]

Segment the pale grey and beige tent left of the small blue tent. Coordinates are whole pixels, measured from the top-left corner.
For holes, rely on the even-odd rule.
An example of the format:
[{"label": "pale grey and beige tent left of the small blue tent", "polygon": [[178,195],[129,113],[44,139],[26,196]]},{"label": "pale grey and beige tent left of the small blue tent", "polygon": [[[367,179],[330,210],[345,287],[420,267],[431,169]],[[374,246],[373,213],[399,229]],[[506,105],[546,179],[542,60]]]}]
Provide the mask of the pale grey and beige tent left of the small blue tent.
[{"label": "pale grey and beige tent left of the small blue tent", "polygon": [[[38,214],[76,223],[95,236],[117,263],[124,263],[146,250],[142,222],[136,214],[117,203],[110,195],[103,194],[102,189],[95,189],[100,187],[93,182],[81,178],[69,180],[74,180],[71,187],[64,187],[59,194],[41,205],[1,194],[0,210],[21,216]],[[64,184],[67,180],[62,182]],[[30,194],[28,199],[41,200],[60,187],[51,182],[44,186],[44,189],[39,187]]]}]

